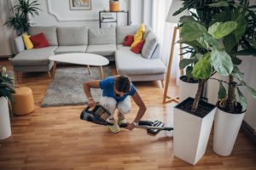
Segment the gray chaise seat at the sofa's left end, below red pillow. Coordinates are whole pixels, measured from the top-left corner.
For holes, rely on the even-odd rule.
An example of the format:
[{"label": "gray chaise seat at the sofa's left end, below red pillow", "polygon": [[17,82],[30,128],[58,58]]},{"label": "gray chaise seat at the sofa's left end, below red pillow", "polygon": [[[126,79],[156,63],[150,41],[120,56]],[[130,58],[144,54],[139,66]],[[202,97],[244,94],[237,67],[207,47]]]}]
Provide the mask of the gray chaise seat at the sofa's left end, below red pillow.
[{"label": "gray chaise seat at the sofa's left end, below red pillow", "polygon": [[49,65],[49,56],[54,55],[57,47],[33,48],[22,51],[11,59],[12,65]]}]

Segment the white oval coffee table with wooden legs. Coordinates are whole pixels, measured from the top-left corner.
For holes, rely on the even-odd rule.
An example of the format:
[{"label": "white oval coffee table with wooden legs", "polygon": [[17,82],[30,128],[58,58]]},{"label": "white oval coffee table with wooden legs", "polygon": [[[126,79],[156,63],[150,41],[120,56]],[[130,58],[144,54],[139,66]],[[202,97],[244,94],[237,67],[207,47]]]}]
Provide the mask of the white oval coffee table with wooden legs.
[{"label": "white oval coffee table with wooden legs", "polygon": [[49,59],[55,61],[55,64],[53,67],[53,78],[55,77],[55,69],[56,69],[57,62],[71,63],[76,65],[87,65],[89,74],[90,74],[90,65],[100,66],[101,72],[102,72],[102,79],[104,78],[102,65],[108,65],[109,63],[109,60],[103,57],[102,55],[85,54],[85,53],[57,54],[57,55],[49,56]]}]

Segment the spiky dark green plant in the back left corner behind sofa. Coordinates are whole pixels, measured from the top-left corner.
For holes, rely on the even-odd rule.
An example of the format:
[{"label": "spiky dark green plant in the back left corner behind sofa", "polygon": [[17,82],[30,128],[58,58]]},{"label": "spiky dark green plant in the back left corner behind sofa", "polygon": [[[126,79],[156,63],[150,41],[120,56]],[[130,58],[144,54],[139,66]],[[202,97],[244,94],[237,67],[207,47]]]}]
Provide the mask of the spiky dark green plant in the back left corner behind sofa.
[{"label": "spiky dark green plant in the back left corner behind sofa", "polygon": [[38,0],[19,0],[12,9],[14,16],[11,16],[5,25],[13,27],[17,35],[26,32],[30,26],[29,15],[32,17],[38,15],[38,10],[40,10],[38,5]]}]

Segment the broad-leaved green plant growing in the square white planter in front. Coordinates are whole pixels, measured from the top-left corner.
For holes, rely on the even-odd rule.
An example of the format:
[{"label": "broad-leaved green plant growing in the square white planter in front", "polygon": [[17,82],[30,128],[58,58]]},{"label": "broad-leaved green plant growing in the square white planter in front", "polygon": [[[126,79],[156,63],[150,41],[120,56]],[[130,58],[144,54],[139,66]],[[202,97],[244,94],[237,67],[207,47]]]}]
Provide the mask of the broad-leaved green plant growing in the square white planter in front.
[{"label": "broad-leaved green plant growing in the square white planter in front", "polygon": [[183,59],[180,65],[184,68],[192,64],[192,76],[199,81],[192,112],[197,110],[201,89],[207,79],[215,72],[223,76],[229,76],[233,71],[231,57],[218,41],[235,31],[236,26],[236,21],[218,22],[208,29],[194,20],[186,20],[183,23],[180,32],[181,41],[179,42],[187,45],[192,44],[195,47],[196,55],[190,59]]}]

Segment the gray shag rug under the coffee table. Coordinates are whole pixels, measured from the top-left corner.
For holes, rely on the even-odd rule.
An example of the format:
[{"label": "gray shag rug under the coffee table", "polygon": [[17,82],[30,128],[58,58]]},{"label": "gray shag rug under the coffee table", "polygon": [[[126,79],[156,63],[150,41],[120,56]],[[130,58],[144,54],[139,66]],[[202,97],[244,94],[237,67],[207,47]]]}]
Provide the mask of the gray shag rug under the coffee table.
[{"label": "gray shag rug under the coffee table", "polygon": [[[104,77],[112,75],[110,66],[103,66]],[[101,69],[90,66],[90,75],[86,66],[56,68],[55,78],[49,83],[49,88],[44,96],[42,107],[62,105],[85,105],[87,98],[84,94],[83,82],[100,80]],[[102,90],[91,88],[91,95],[96,102],[99,101]]]}]

